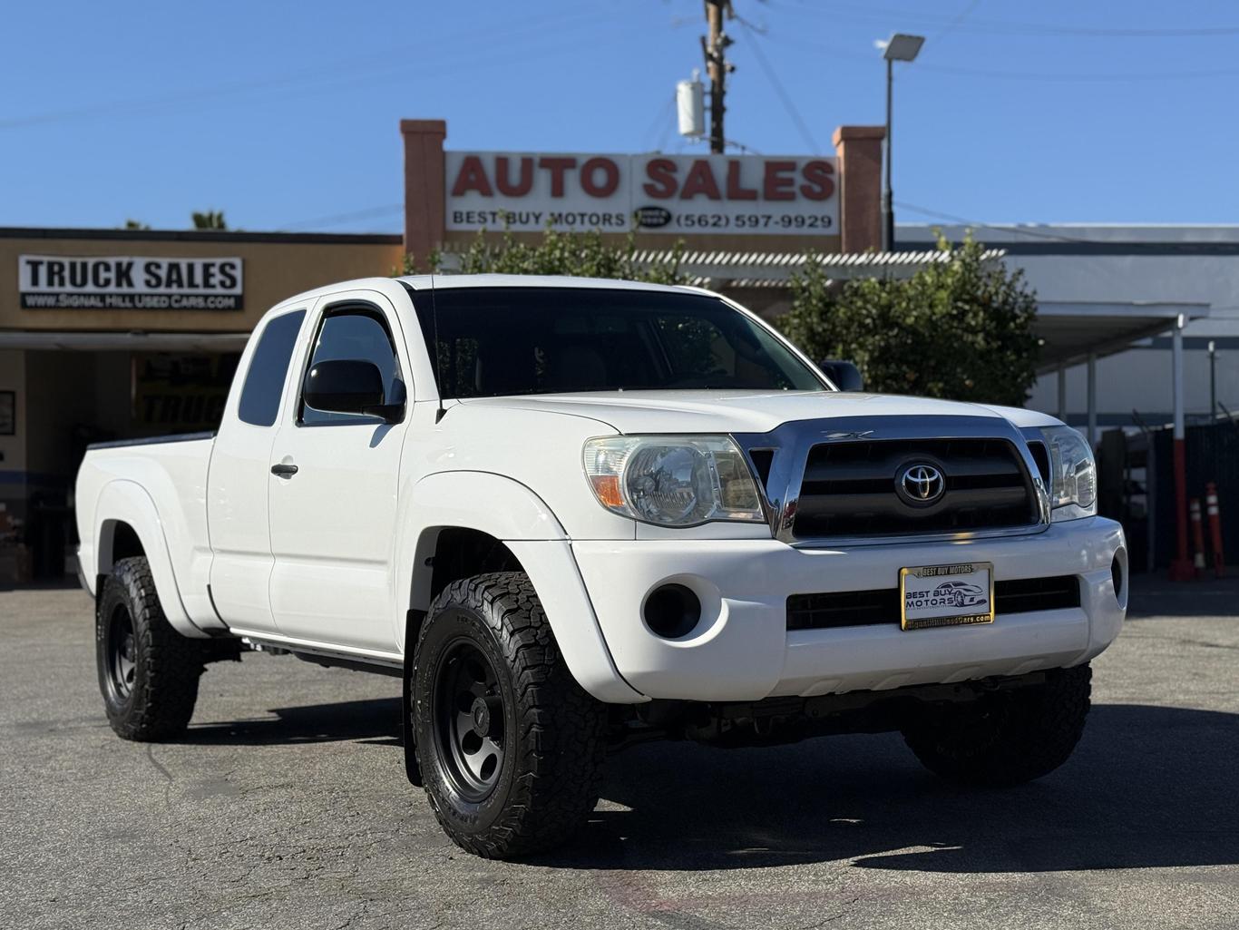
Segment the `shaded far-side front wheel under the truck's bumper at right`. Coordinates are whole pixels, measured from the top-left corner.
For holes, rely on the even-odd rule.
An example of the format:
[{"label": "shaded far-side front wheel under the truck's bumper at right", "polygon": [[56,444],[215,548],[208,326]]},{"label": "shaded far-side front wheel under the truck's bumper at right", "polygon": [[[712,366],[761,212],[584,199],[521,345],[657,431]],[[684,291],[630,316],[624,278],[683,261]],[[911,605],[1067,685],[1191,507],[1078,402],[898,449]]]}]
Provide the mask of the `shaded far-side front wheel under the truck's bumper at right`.
[{"label": "shaded far-side front wheel under the truck's bumper at right", "polygon": [[1093,671],[1046,673],[1044,684],[996,692],[927,713],[903,739],[933,773],[968,785],[1005,787],[1048,775],[1084,732]]}]

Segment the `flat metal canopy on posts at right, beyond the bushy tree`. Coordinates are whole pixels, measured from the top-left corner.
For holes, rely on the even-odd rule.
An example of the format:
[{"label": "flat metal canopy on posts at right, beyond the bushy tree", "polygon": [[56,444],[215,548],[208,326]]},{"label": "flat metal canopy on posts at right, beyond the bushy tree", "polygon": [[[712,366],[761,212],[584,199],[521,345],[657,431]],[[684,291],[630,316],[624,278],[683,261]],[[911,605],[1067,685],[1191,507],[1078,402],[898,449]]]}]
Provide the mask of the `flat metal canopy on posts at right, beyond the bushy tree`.
[{"label": "flat metal canopy on posts at right, beyond the bushy tree", "polygon": [[1208,315],[1208,304],[1040,301],[1033,324],[1042,340],[1037,373],[1083,365],[1089,356],[1121,352],[1137,340]]}]

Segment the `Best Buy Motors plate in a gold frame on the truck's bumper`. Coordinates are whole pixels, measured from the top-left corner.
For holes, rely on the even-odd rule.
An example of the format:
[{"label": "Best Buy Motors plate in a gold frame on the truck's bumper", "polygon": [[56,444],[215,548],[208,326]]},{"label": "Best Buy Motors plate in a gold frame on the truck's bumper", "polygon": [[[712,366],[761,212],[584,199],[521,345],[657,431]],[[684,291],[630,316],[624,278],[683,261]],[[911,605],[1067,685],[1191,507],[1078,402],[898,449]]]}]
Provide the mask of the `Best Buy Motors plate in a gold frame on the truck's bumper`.
[{"label": "Best Buy Motors plate in a gold frame on the truck's bumper", "polygon": [[900,610],[904,630],[992,624],[994,564],[901,568]]}]

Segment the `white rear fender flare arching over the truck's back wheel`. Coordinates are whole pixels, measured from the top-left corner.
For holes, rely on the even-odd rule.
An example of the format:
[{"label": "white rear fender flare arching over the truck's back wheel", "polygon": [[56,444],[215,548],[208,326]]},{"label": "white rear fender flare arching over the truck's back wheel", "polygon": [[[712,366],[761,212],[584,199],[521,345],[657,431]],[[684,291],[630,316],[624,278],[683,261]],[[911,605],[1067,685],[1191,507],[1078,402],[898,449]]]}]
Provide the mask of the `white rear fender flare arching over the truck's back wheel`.
[{"label": "white rear fender flare arching over the truck's back wheel", "polygon": [[[159,595],[164,615],[177,632],[193,639],[206,639],[207,634],[195,626],[181,603],[181,590],[172,573],[172,559],[169,554],[167,539],[164,536],[164,523],[159,516],[155,501],[146,489],[135,481],[118,479],[109,481],[99,492],[94,508],[94,564],[92,575],[108,574],[112,570],[112,542],[104,531],[113,523],[128,523],[138,541],[142,544],[146,562],[150,564],[151,578],[155,579],[155,591]],[[97,591],[98,594],[98,591]]]}]

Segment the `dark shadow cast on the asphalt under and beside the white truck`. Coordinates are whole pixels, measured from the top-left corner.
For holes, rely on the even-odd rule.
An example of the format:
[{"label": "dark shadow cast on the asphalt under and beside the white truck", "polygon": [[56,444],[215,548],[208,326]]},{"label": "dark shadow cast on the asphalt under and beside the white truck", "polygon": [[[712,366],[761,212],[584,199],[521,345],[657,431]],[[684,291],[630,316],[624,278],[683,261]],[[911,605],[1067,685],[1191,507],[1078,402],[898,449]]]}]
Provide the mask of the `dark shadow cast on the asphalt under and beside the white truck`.
[{"label": "dark shadow cast on the asphalt under and beside the white truck", "polygon": [[[182,742],[357,740],[399,746],[399,699],[280,708]],[[929,775],[895,734],[612,758],[581,837],[530,864],[731,869],[851,861],[926,872],[1239,863],[1239,714],[1100,704],[1057,773],[1006,791]],[[410,791],[414,789],[409,789]]]}]

